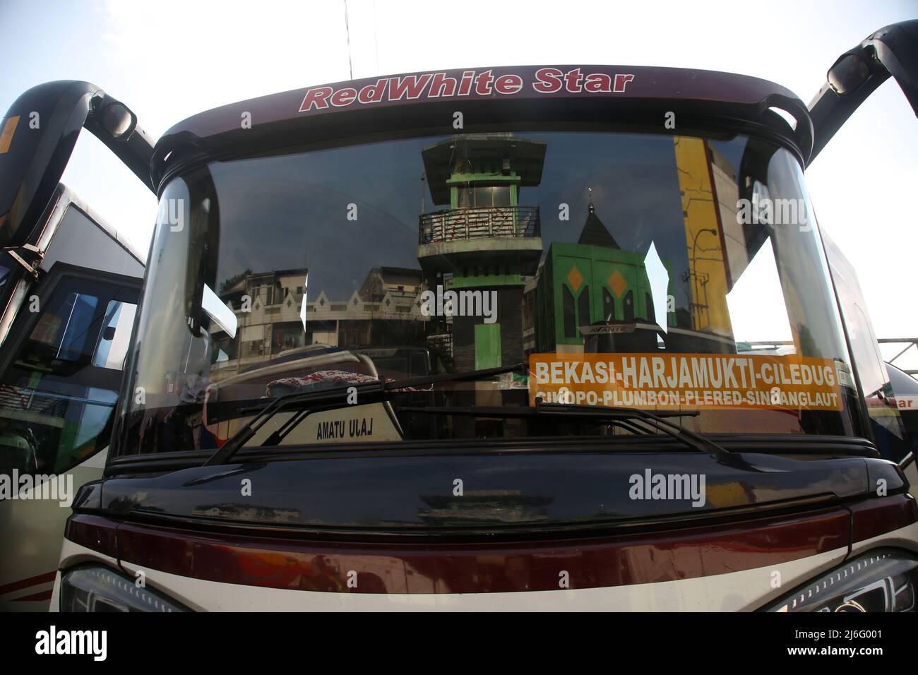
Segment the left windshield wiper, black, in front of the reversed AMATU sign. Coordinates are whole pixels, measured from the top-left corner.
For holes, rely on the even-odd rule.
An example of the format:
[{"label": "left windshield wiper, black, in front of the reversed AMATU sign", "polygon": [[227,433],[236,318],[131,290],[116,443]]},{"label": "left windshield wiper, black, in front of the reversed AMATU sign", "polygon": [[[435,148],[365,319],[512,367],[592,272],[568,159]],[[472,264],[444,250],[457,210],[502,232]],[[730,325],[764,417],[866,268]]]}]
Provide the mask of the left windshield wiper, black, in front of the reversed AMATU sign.
[{"label": "left windshield wiper, black, in front of the reversed AMATU sign", "polygon": [[[526,366],[524,364],[513,364],[512,366],[470,370],[465,373],[443,373],[441,375],[409,377],[393,382],[377,380],[375,382],[365,382],[363,384],[344,383],[341,387],[322,389],[320,391],[295,391],[284,394],[278,396],[276,399],[272,399],[271,402],[267,403],[261,411],[252,418],[252,420],[243,424],[236,433],[229,436],[227,442],[222,444],[213,455],[207,457],[207,461],[202,466],[211,467],[218,464],[226,464],[244,444],[249,442],[255,433],[258,433],[258,430],[263,427],[265,422],[280,411],[297,408],[305,413],[297,415],[295,422],[290,425],[290,428],[292,428],[292,426],[296,426],[296,424],[301,422],[311,412],[344,408],[348,405],[348,394],[351,392],[352,388],[356,389],[357,399],[360,401],[361,405],[364,405],[366,403],[376,403],[389,399],[394,394],[399,393],[399,389],[426,387],[427,385],[434,385],[439,382],[475,380],[515,371],[525,373],[525,368]],[[303,410],[304,408],[306,410]],[[281,429],[278,429],[277,432],[284,430],[287,426],[288,425],[285,425]],[[289,429],[286,429],[286,431],[289,431]],[[275,434],[277,432],[275,432]],[[274,434],[272,434],[272,436],[274,436]]]}]

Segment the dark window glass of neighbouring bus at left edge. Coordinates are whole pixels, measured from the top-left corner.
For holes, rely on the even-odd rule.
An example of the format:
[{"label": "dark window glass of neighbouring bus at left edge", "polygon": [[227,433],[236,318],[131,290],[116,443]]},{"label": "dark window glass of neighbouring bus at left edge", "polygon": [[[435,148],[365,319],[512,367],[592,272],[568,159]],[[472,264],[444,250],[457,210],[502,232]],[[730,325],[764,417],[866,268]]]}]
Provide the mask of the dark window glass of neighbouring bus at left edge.
[{"label": "dark window glass of neighbouring bus at left edge", "polygon": [[20,317],[34,323],[0,376],[0,474],[60,474],[107,444],[136,299],[64,276]]}]

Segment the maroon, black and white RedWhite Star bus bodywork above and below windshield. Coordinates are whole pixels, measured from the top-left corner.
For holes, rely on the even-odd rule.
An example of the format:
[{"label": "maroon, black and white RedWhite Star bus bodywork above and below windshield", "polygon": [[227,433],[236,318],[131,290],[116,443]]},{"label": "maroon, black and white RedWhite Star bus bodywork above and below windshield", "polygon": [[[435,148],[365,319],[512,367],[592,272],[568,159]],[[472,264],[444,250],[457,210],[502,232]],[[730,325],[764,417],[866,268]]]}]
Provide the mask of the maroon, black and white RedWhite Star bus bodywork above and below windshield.
[{"label": "maroon, black and white RedWhite Star bus bodywork above and below windshield", "polygon": [[[768,107],[797,118],[796,129],[764,117]],[[456,110],[465,129],[494,120],[586,127],[611,117],[655,133],[666,132],[665,114],[674,112],[680,128],[765,135],[803,165],[813,145],[806,107],[755,78],[491,68],[217,108],[159,141],[153,181],[162,189],[184,165],[278,138],[328,147],[357,132],[418,135],[435,120],[451,124]],[[251,129],[241,129],[244,113]],[[716,440],[726,452],[644,437],[610,450],[586,436],[558,438],[550,452],[525,439],[448,449],[344,444],[336,449],[351,452],[326,455],[244,447],[216,466],[202,466],[207,455],[121,448],[106,478],[74,503],[55,593],[69,570],[101,566],[128,583],[142,573],[153,602],[203,611],[796,610],[828,596],[854,606],[871,584],[887,589],[887,608],[903,608],[897,593],[912,588],[901,579],[911,579],[918,554],[918,507],[900,467],[880,459],[870,440]],[[706,501],[629,495],[633,476],[649,482],[655,474],[705,476]],[[252,497],[242,499],[246,479]],[[862,582],[849,588],[856,575]]]}]

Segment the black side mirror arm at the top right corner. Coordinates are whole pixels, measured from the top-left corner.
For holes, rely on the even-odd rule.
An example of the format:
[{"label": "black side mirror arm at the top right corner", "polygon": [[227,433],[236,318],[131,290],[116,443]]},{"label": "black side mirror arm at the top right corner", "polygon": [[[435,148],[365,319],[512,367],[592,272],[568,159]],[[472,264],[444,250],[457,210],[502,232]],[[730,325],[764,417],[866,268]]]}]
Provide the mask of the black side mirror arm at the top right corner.
[{"label": "black side mirror arm at the top right corner", "polygon": [[918,116],[918,19],[880,28],[835,60],[810,102],[814,139],[808,163],[890,76]]}]

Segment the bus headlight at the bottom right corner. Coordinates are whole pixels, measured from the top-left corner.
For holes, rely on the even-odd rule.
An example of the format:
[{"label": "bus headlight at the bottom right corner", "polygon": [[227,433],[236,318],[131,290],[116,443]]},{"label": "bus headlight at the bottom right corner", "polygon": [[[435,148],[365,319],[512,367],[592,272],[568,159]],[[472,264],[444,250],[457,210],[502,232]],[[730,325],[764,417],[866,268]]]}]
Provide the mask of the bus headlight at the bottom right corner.
[{"label": "bus headlight at the bottom right corner", "polygon": [[878,549],[809,581],[767,612],[914,612],[918,558]]}]

